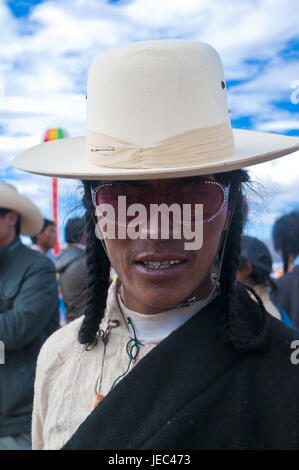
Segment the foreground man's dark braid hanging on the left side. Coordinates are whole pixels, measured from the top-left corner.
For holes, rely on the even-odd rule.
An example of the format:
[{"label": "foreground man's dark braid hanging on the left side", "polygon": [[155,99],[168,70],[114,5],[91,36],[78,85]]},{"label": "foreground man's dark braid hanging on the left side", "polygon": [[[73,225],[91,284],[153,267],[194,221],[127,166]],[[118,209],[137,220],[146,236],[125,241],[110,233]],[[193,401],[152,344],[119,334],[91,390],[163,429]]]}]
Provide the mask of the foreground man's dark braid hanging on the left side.
[{"label": "foreground man's dark braid hanging on the left side", "polygon": [[104,316],[106,308],[109,279],[110,261],[95,233],[95,221],[93,218],[93,205],[90,194],[90,184],[83,181],[85,195],[83,198],[86,209],[85,220],[87,230],[86,262],[88,267],[88,293],[78,339],[87,347],[97,342],[97,332]]}]

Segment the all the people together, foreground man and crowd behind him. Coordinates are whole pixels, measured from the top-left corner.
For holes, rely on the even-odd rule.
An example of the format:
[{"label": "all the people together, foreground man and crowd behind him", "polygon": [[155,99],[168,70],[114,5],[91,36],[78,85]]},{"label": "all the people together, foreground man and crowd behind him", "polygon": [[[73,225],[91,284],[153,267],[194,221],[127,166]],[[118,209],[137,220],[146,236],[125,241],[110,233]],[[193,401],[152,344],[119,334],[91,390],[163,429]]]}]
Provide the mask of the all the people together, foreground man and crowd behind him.
[{"label": "all the people together, foreground man and crowd behind him", "polygon": [[[87,145],[61,139],[14,160],[82,180],[85,217],[68,221],[57,259],[47,256],[54,222],[0,181],[0,449],[299,448],[299,213],[273,227],[279,279],[267,246],[242,233],[244,168],[298,142],[233,134],[225,93],[204,43],[145,41],[97,56]],[[123,195],[143,207],[201,204],[202,246],[185,249],[185,232],[101,238],[95,211],[117,212]],[[120,231],[129,219],[107,223]]]}]

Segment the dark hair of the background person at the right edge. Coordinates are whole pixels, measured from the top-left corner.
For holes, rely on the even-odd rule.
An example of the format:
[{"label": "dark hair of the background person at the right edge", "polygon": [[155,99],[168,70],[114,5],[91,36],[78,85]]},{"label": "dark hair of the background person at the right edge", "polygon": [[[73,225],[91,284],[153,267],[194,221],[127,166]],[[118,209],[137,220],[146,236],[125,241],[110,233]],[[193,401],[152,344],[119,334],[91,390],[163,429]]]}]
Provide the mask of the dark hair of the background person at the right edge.
[{"label": "dark hair of the background person at the right edge", "polygon": [[299,212],[291,212],[276,220],[273,227],[274,249],[281,253],[283,270],[289,266],[289,255],[299,254]]}]

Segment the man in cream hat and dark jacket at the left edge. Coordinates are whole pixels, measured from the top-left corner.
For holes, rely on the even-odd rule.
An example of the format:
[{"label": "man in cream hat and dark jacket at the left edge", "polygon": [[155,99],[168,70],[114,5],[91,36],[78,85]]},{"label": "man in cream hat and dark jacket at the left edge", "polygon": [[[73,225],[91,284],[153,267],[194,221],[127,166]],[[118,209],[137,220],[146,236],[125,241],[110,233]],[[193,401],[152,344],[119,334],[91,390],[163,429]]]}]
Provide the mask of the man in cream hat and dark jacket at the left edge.
[{"label": "man in cream hat and dark jacket at the left edge", "polygon": [[33,382],[43,342],[59,326],[55,267],[22,244],[42,227],[38,208],[0,181],[0,449],[30,449]]}]

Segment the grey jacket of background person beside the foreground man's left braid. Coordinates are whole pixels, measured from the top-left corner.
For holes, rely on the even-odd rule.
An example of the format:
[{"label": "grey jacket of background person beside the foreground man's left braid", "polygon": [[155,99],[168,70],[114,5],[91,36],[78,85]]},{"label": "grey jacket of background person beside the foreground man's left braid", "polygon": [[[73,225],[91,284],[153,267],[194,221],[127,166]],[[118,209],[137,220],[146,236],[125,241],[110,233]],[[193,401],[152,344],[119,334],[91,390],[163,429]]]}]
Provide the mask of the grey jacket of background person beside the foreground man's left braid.
[{"label": "grey jacket of background person beside the foreground man's left braid", "polygon": [[83,314],[86,304],[88,270],[84,248],[69,243],[67,248],[61,251],[55,265],[67,307],[66,318],[70,322]]}]

